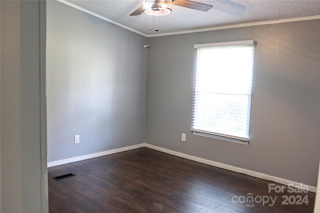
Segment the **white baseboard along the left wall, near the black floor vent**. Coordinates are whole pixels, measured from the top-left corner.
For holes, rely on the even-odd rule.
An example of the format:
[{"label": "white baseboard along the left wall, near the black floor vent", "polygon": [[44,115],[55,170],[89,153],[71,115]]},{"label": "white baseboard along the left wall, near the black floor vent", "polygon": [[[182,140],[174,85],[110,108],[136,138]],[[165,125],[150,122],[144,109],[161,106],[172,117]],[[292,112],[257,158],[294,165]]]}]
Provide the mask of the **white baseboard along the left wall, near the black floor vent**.
[{"label": "white baseboard along the left wall, near the black floor vent", "polygon": [[103,151],[103,152],[92,153],[92,154],[88,154],[88,155],[77,156],[77,157],[73,157],[73,158],[62,159],[62,160],[58,160],[58,161],[52,161],[52,162],[47,163],[47,167],[49,168],[49,167],[59,166],[59,165],[73,163],[73,162],[77,162],[77,161],[83,161],[83,160],[87,160],[90,158],[111,155],[114,153],[124,152],[124,151],[137,149],[137,148],[141,148],[141,147],[144,147],[144,144],[137,144],[137,145],[133,145],[133,146],[129,146],[129,147],[123,147],[123,148],[107,150],[107,151]]}]

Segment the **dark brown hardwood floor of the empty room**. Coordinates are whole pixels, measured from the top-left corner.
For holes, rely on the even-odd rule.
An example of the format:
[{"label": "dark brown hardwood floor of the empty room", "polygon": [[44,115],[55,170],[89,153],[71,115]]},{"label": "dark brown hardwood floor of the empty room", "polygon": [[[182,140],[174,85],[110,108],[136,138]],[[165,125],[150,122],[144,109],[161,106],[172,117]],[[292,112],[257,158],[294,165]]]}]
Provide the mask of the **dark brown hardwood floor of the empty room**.
[{"label": "dark brown hardwood floor of the empty room", "polygon": [[48,189],[50,213],[311,213],[315,199],[148,148],[48,168]]}]

